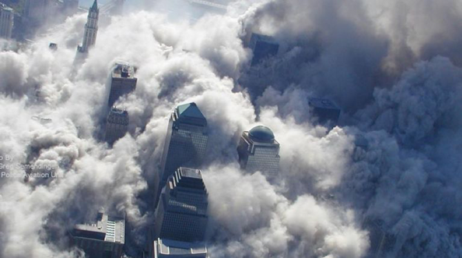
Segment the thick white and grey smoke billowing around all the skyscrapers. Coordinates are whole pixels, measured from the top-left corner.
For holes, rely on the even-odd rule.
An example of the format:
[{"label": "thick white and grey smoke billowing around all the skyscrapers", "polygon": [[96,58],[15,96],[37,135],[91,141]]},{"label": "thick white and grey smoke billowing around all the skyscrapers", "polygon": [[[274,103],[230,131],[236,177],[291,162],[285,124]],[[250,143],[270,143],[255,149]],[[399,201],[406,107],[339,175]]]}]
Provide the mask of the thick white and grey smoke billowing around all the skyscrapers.
[{"label": "thick white and grey smoke billowing around all the skyscrapers", "polygon": [[[81,63],[86,14],[17,52],[1,44],[1,172],[18,176],[0,179],[0,257],[75,257],[67,231],[101,207],[126,215],[137,255],[168,116],[191,101],[210,127],[212,257],[462,256],[461,4],[252,2],[189,20],[112,17]],[[281,43],[251,72],[250,31]],[[99,134],[117,61],[137,66],[138,84],[117,103],[130,134],[109,148]],[[343,108],[340,126],[312,124],[312,96]],[[281,143],[278,183],[239,170],[239,136],[258,124]],[[24,179],[50,171],[17,164],[60,177]]]}]

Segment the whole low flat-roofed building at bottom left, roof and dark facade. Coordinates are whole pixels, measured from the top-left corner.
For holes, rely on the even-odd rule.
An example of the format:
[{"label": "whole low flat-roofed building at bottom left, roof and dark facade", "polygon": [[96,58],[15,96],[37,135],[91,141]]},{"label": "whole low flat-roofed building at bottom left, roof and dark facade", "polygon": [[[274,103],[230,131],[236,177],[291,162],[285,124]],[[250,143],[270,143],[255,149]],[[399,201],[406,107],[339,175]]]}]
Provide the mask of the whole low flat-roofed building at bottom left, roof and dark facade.
[{"label": "whole low flat-roofed building at bottom left, roof and dark facade", "polygon": [[99,212],[96,224],[76,225],[70,239],[88,258],[120,258],[125,244],[125,220]]}]

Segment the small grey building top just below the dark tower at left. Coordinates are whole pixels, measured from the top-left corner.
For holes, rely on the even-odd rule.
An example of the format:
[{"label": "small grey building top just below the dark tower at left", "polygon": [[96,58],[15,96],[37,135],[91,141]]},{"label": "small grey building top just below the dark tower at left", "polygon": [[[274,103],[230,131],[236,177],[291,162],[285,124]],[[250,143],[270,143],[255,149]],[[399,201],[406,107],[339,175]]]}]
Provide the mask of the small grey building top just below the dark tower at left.
[{"label": "small grey building top just below the dark tower at left", "polygon": [[111,108],[106,120],[106,133],[104,139],[112,144],[121,139],[128,131],[128,112],[119,108]]}]

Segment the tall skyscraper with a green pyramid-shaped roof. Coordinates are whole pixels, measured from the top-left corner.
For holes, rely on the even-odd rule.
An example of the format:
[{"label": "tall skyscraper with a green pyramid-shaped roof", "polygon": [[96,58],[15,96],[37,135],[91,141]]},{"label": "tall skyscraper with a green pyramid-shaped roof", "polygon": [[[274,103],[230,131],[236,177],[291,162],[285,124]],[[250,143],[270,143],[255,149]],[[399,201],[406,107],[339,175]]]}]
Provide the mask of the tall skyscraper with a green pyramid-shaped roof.
[{"label": "tall skyscraper with a green pyramid-shaped roof", "polygon": [[196,103],[188,103],[175,108],[170,116],[158,173],[157,202],[159,193],[168,177],[180,166],[199,167],[207,148],[207,119]]}]

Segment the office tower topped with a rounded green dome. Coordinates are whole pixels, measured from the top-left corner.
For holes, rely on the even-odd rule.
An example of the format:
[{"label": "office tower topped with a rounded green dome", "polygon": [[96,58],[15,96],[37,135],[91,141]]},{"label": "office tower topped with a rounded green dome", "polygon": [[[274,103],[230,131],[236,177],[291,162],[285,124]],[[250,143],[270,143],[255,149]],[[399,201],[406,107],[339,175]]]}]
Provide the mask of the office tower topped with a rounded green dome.
[{"label": "office tower topped with a rounded green dome", "polygon": [[267,177],[279,174],[279,143],[270,128],[256,126],[242,133],[237,147],[241,169],[260,171]]}]

